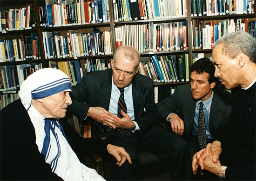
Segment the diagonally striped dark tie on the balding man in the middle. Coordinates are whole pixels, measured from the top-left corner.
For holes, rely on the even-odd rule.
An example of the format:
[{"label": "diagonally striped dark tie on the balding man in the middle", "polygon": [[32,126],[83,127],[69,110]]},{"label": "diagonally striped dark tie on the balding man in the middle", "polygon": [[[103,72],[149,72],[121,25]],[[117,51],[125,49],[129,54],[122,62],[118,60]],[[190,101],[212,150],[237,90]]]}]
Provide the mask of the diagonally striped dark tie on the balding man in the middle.
[{"label": "diagonally striped dark tie on the balding man in the middle", "polygon": [[[119,118],[122,118],[122,114],[121,114],[121,110],[123,110],[123,112],[127,113],[127,107],[124,101],[124,88],[119,88],[120,90],[120,97],[118,100],[118,104],[117,104],[117,116]],[[126,130],[126,129],[116,129],[121,135],[126,135],[126,136],[131,136],[131,132],[130,130]]]}]

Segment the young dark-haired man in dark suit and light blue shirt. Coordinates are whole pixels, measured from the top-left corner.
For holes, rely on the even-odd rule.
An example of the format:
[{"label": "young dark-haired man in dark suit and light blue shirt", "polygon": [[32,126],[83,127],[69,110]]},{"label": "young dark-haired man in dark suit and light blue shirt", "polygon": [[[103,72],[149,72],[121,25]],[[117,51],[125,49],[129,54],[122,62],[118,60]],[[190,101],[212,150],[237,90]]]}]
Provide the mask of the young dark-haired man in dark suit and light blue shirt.
[{"label": "young dark-haired man in dark suit and light blue shirt", "polygon": [[208,143],[223,128],[231,112],[231,94],[216,87],[214,71],[209,58],[197,60],[190,68],[190,85],[178,86],[172,96],[156,105],[160,118],[169,121],[172,131],[188,142],[191,158],[201,150],[197,137],[199,103],[204,104]]}]

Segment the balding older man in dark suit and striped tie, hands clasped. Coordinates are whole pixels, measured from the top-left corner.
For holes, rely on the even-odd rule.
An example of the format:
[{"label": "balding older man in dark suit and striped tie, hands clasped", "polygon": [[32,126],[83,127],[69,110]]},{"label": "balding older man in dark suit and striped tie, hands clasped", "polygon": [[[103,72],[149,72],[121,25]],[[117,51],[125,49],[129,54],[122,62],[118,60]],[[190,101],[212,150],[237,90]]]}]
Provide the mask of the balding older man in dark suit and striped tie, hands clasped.
[{"label": "balding older man in dark suit and striped tie, hands clasped", "polygon": [[[139,62],[140,55],[135,48],[120,46],[111,60],[112,70],[86,73],[73,87],[73,104],[69,109],[80,119],[93,119],[111,144],[124,147],[131,156],[132,164],[124,163],[121,167],[111,161],[113,180],[136,179],[138,150],[150,151],[171,162],[173,180],[190,180],[187,144],[158,125],[154,82],[137,74]],[[124,88],[126,106],[121,106],[119,112],[120,88]]]}]

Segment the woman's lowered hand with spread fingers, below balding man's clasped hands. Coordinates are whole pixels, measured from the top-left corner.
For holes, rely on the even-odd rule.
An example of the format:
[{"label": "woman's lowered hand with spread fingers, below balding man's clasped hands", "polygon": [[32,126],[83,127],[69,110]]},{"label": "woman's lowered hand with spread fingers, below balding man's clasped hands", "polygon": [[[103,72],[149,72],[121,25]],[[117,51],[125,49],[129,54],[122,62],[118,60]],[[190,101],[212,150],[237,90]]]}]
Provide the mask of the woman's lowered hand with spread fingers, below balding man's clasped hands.
[{"label": "woman's lowered hand with spread fingers, below balding man's clasped hands", "polygon": [[132,164],[130,155],[124,150],[124,148],[115,146],[112,144],[108,144],[107,146],[108,153],[110,155],[115,156],[117,160],[116,164],[121,167],[121,165],[127,160],[130,164]]}]

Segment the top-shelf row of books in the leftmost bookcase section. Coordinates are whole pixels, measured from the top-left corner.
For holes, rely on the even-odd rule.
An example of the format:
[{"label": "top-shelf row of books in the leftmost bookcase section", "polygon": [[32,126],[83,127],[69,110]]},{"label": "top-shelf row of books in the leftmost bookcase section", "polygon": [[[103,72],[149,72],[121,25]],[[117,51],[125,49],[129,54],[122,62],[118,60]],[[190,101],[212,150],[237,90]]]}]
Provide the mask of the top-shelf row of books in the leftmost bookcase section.
[{"label": "top-shelf row of books in the leftmost bookcase section", "polygon": [[35,27],[34,6],[0,9],[0,32],[27,30]]}]

